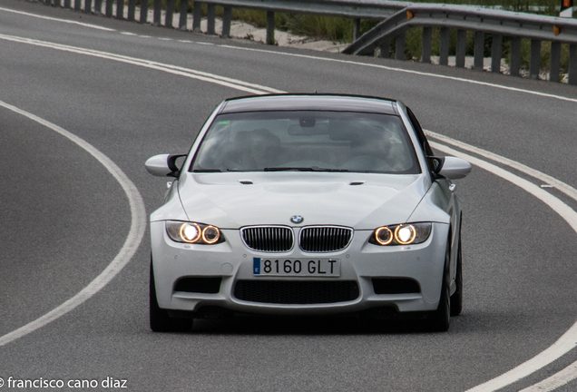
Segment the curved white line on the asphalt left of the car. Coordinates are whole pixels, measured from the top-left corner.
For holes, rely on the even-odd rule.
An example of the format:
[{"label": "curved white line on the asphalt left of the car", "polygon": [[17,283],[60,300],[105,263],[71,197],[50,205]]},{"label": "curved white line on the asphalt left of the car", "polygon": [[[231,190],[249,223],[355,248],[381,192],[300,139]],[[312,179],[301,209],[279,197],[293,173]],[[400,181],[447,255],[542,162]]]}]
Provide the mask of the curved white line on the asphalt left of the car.
[{"label": "curved white line on the asphalt left of the car", "polygon": [[144,231],[146,230],[146,211],[144,209],[144,201],[142,201],[142,196],[136,186],[130,181],[126,174],[119,168],[110,158],[104,155],[102,152],[98,151],[93,147],[92,144],[85,142],[83,139],[74,135],[71,132],[64,130],[63,128],[55,125],[52,122],[47,122],[44,119],[35,116],[32,113],[24,112],[17,107],[4,103],[0,101],[0,106],[5,109],[11,110],[15,113],[24,115],[25,117],[38,122],[54,132],[58,132],[65,138],[76,143],[79,147],[83,148],[86,152],[90,153],[98,162],[102,163],[104,168],[112,174],[112,177],[121,185],[122,190],[128,198],[131,209],[131,228],[128,232],[128,236],[122,245],[122,249],[118,252],[116,257],[112,262],[93,279],[88,286],[82,289],[78,294],[73,296],[73,298],[68,299],[59,307],[49,311],[44,314],[44,316],[35,319],[34,321],[24,325],[21,328],[15,329],[14,331],[0,337],[0,346],[4,346],[17,338],[22,338],[25,335],[34,332],[38,328],[44,327],[46,324],[59,319],[64,316],[69,311],[75,309],[79,305],[83,304],[84,301],[90,299],[99,290],[103,289],[108,282],[110,282],[118,273],[128,264],[132,259],[136,250],[142,242],[142,237],[144,236]]}]

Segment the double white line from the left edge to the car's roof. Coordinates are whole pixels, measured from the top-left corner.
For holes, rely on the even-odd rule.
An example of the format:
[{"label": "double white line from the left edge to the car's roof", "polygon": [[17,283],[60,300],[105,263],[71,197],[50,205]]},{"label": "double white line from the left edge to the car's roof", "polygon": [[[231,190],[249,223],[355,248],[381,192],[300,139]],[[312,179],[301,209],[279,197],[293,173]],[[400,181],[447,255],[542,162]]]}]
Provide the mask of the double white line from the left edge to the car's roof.
[{"label": "double white line from the left edge to the car's roof", "polygon": [[62,50],[64,52],[71,52],[71,53],[75,53],[75,54],[86,54],[86,55],[91,55],[93,57],[100,57],[100,58],[118,61],[118,62],[126,63],[126,64],[140,65],[140,66],[143,66],[146,68],[152,68],[152,69],[163,71],[166,73],[174,73],[174,74],[186,76],[186,77],[189,77],[192,79],[198,79],[198,80],[201,80],[204,82],[220,84],[220,85],[230,87],[232,89],[240,90],[240,91],[243,91],[246,93],[260,94],[260,93],[262,93],[262,90],[268,91],[268,92],[274,92],[274,93],[279,92],[279,90],[272,89],[272,88],[269,88],[266,86],[261,86],[259,84],[255,84],[255,83],[246,83],[246,82],[242,82],[242,81],[239,81],[236,79],[231,79],[231,78],[219,76],[219,75],[216,75],[213,73],[205,73],[205,72],[201,72],[201,71],[191,70],[189,68],[183,68],[183,67],[176,66],[176,65],[161,64],[161,63],[152,62],[152,61],[148,61],[148,60],[142,60],[142,59],[138,59],[138,58],[134,58],[134,57],[123,56],[120,54],[111,54],[111,53],[107,53],[107,52],[93,51],[93,50],[83,49],[83,48],[79,48],[79,47],[75,47],[75,46],[69,46],[69,45],[64,45],[64,44],[54,44],[54,43],[50,43],[50,42],[46,42],[46,41],[39,41],[39,40],[31,39],[31,38],[24,38],[24,37],[18,37],[18,36],[13,36],[13,35],[0,34],[0,39],[6,40],[6,41],[17,42],[17,43],[21,43],[21,44],[32,44],[32,45],[36,45],[36,46],[48,47],[51,49]]}]

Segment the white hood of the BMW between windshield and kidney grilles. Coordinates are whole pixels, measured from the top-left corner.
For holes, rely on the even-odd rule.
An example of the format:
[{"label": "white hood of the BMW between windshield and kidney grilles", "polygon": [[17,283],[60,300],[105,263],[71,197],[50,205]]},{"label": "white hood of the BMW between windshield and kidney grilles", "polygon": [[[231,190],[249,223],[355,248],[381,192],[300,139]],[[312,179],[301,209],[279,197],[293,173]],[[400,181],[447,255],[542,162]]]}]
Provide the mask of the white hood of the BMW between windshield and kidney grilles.
[{"label": "white hood of the BMW between windshield and kidney grilles", "polygon": [[[186,173],[179,196],[189,220],[220,229],[404,223],[425,196],[425,175],[335,172]],[[303,218],[300,224],[290,218]]]}]

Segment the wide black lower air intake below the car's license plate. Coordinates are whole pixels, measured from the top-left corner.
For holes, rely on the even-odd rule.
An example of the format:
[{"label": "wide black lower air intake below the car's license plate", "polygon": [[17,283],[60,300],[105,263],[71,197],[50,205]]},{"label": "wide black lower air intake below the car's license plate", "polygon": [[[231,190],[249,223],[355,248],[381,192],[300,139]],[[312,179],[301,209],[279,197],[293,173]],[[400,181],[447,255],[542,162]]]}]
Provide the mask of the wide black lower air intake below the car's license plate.
[{"label": "wide black lower air intake below the car's license plate", "polygon": [[234,289],[234,296],[241,300],[286,305],[347,302],[358,295],[354,280],[239,280]]}]

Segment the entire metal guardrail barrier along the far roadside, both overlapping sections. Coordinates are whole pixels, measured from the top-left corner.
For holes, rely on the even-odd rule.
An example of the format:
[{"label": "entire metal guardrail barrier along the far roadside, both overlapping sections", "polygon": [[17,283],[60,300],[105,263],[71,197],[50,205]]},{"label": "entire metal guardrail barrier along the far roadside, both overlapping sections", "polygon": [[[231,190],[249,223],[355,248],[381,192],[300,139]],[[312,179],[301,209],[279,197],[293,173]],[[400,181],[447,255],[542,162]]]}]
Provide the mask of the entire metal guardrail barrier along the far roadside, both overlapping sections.
[{"label": "entire metal guardrail barrier along the far roadside, both overlapping sections", "polygon": [[[40,0],[45,5],[63,6],[76,11],[113,15],[114,0]],[[74,2],[72,6],[72,1]],[[94,1],[94,3],[93,3]],[[176,0],[166,1],[164,25],[172,27]],[[184,0],[181,0],[184,1]],[[161,24],[162,0],[154,0],[153,25]],[[539,78],[542,41],[552,43],[549,80],[559,82],[561,44],[570,44],[569,84],[577,84],[577,20],[553,16],[531,15],[481,8],[471,5],[426,5],[388,0],[203,0],[193,1],[192,31],[200,32],[202,3],[208,4],[207,34],[216,34],[216,6],[224,7],[222,36],[230,36],[232,8],[258,9],[267,12],[267,43],[275,44],[275,12],[308,13],[353,18],[354,42],[343,53],[374,55],[380,48],[382,57],[390,55],[390,43],[395,40],[397,60],[405,60],[406,31],[423,27],[421,59],[431,62],[433,28],[440,29],[439,64],[448,65],[449,30],[456,29],[457,67],[465,67],[466,32],[474,31],[474,70],[483,70],[484,34],[492,34],[491,71],[500,73],[504,36],[511,37],[510,73],[521,69],[521,40],[531,39],[530,77]],[[83,5],[83,6],[82,6]],[[104,11],[103,11],[104,5]],[[116,18],[124,19],[124,1],[116,1]],[[136,20],[136,0],[128,0],[126,19]],[[148,2],[142,1],[140,23],[147,23]],[[187,30],[187,14],[181,13],[179,28]],[[360,20],[383,20],[360,36]]]}]

